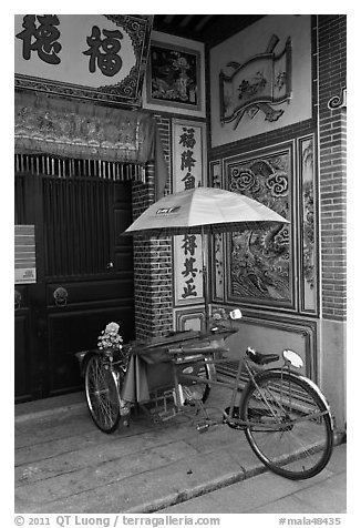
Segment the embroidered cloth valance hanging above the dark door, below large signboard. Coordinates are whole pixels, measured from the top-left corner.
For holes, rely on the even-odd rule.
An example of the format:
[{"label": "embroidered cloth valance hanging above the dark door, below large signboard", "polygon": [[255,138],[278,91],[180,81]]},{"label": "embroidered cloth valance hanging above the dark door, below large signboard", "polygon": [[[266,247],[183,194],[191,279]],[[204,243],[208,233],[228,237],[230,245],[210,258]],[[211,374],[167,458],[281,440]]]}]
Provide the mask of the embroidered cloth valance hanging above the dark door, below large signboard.
[{"label": "embroidered cloth valance hanging above the dark door, below large signboard", "polygon": [[144,164],[155,156],[155,132],[141,111],[16,91],[17,153]]}]

